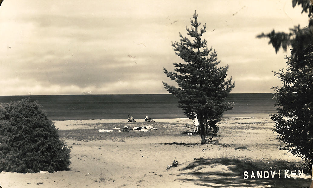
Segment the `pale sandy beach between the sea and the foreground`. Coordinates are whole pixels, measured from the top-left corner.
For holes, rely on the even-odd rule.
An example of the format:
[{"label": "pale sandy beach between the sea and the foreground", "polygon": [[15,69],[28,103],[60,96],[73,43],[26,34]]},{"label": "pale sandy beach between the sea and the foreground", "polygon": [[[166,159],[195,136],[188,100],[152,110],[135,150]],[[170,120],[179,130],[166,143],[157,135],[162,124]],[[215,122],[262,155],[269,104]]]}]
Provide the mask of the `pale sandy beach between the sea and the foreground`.
[{"label": "pale sandy beach between the sea and the foreground", "polygon": [[[273,133],[270,118],[223,118],[218,123],[220,137],[200,145],[200,136],[187,134],[161,134],[166,130],[191,131],[185,124],[190,119],[156,119],[151,122],[158,130],[148,132],[118,132],[124,125],[143,125],[143,120],[127,123],[126,120],[75,120],[54,121],[63,135],[73,130],[93,131],[109,139],[68,139],[71,146],[70,171],[21,174],[0,173],[0,185],[8,187],[278,187],[268,179],[245,180],[243,172],[233,172],[232,165],[208,163],[209,159],[248,159],[270,163],[284,160],[301,164],[285,150]],[[99,132],[111,127],[113,132]],[[178,131],[178,132],[179,132]],[[159,134],[160,133],[160,134]],[[136,136],[136,134],[141,134]],[[146,134],[146,135],[145,135]],[[131,135],[131,136],[130,136]],[[206,163],[203,161],[206,160]],[[178,162],[177,167],[167,169]],[[277,171],[280,169],[276,169]],[[225,175],[226,174],[226,175]],[[283,176],[283,175],[282,175]],[[310,178],[287,178],[299,187],[309,187]],[[308,183],[309,182],[309,183]],[[307,185],[308,184],[308,185]]]}]

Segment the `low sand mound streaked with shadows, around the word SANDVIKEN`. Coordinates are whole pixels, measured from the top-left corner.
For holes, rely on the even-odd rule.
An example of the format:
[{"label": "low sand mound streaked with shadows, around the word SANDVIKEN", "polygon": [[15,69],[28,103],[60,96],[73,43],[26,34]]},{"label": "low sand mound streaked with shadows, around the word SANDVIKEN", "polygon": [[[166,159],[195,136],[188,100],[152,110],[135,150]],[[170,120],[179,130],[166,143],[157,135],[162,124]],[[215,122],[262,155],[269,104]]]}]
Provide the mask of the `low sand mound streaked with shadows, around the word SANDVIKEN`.
[{"label": "low sand mound streaked with shadows, around the word SANDVIKEN", "polygon": [[[264,163],[265,164],[265,163]],[[192,182],[195,185],[214,188],[222,187],[275,187],[275,188],[294,188],[310,187],[311,179],[304,178],[284,178],[284,169],[281,178],[257,178],[257,171],[267,171],[262,168],[262,162],[253,163],[249,161],[240,161],[236,159],[197,159],[187,166],[182,166],[178,170],[176,181]],[[288,169],[292,170],[292,169]],[[249,178],[244,179],[243,172],[249,172]],[[256,178],[250,178],[251,171],[254,171]],[[290,173],[289,173],[290,175]]]}]

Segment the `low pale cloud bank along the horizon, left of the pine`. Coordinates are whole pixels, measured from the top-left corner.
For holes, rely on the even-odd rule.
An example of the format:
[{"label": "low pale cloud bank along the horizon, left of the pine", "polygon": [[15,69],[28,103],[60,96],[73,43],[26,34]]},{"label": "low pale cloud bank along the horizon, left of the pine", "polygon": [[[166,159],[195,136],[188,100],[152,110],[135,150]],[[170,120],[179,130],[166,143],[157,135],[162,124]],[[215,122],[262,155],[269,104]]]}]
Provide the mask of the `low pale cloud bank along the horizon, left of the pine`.
[{"label": "low pale cloud bank along the horizon, left of the pine", "polygon": [[77,85],[57,85],[46,82],[8,79],[0,82],[0,95],[79,95],[83,92],[91,94],[160,94],[164,93],[163,84],[158,80],[117,80],[106,82],[101,87]]}]

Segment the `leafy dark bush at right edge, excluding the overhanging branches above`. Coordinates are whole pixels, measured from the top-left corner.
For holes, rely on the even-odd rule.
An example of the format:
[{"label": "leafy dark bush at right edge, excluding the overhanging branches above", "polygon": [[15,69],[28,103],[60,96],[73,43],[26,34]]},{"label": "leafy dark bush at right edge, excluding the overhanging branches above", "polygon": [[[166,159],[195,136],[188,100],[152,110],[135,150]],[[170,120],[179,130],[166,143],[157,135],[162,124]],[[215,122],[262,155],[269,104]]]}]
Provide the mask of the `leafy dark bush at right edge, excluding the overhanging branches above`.
[{"label": "leafy dark bush at right edge, excluding the overhanging branches above", "polygon": [[271,115],[281,141],[292,154],[313,163],[313,46],[287,59],[287,72],[275,75],[281,79],[276,91],[277,114]]}]

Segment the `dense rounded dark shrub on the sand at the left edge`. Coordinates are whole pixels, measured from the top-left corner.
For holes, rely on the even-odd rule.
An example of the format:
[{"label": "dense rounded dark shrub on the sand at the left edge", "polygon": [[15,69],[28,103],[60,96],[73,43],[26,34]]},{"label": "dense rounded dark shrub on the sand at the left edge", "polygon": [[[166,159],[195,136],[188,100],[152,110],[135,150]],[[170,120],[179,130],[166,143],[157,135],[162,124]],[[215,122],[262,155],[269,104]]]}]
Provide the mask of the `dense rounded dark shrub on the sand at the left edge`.
[{"label": "dense rounded dark shrub on the sand at the left edge", "polygon": [[70,149],[38,101],[0,104],[0,143],[0,171],[69,170]]}]

